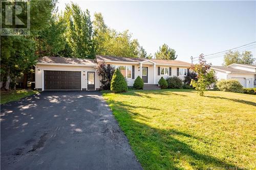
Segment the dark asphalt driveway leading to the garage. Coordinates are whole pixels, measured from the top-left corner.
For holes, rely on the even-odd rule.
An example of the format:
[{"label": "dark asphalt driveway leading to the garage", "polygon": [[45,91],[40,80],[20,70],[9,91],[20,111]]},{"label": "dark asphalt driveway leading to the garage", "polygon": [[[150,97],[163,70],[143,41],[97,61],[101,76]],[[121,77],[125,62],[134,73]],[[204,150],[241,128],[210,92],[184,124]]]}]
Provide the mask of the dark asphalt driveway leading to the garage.
[{"label": "dark asphalt driveway leading to the garage", "polygon": [[44,91],[1,106],[1,168],[142,169],[97,91]]}]

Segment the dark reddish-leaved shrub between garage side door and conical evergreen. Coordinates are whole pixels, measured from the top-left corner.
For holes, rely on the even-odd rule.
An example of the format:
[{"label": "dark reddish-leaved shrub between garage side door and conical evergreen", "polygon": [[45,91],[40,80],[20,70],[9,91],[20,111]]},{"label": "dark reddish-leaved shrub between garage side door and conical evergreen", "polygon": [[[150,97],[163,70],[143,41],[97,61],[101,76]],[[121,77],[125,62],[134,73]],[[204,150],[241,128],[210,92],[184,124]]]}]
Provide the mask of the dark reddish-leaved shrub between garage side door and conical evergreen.
[{"label": "dark reddish-leaved shrub between garage side door and conical evergreen", "polygon": [[108,67],[105,62],[98,62],[95,69],[98,72],[98,75],[101,77],[100,82],[102,84],[103,90],[110,90],[111,80],[115,72],[114,67]]}]

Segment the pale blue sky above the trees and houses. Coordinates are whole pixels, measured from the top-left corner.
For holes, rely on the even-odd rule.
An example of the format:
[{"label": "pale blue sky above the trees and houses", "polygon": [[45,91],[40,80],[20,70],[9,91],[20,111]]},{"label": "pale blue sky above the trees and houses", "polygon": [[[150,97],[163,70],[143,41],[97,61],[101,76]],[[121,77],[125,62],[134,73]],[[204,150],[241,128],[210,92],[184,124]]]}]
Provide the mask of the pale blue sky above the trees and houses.
[{"label": "pale blue sky above the trees and houses", "polygon": [[[71,1],[60,1],[59,11]],[[101,12],[106,25],[128,29],[147,53],[166,43],[177,60],[207,55],[256,41],[256,1],[72,1],[92,15]],[[254,47],[254,48],[253,48]],[[252,48],[252,49],[250,49]],[[255,45],[247,47],[255,57]],[[243,49],[240,48],[240,51]],[[207,59],[223,63],[223,55]]]}]

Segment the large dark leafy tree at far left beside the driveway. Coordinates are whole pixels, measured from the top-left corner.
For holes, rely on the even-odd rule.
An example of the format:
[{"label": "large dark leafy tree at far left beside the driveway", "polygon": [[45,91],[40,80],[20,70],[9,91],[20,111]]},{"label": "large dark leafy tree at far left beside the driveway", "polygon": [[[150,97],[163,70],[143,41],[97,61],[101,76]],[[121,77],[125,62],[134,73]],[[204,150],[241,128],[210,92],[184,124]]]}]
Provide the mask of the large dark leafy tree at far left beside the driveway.
[{"label": "large dark leafy tree at far left beside the driveway", "polygon": [[[15,1],[9,2],[15,10]],[[1,37],[1,85],[9,90],[10,82],[22,72],[27,75],[36,62],[35,42],[38,32],[48,26],[56,1],[28,1],[30,5],[30,36]],[[4,20],[5,14],[2,15]],[[20,15],[26,20],[26,15]],[[26,79],[25,79],[26,80]]]}]

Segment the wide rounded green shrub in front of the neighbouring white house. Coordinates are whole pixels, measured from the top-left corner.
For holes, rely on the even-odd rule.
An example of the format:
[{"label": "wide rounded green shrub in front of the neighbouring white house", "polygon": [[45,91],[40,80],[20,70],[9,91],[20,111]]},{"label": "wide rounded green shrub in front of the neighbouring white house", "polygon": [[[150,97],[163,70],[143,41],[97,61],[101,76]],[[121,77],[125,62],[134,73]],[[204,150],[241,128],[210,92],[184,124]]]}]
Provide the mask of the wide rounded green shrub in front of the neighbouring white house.
[{"label": "wide rounded green shrub in front of the neighbouring white house", "polygon": [[216,83],[218,89],[221,91],[230,91],[243,93],[243,86],[238,80],[220,80]]}]

